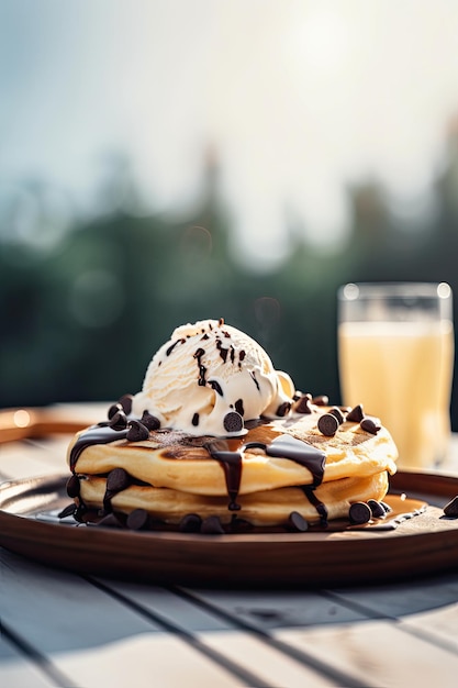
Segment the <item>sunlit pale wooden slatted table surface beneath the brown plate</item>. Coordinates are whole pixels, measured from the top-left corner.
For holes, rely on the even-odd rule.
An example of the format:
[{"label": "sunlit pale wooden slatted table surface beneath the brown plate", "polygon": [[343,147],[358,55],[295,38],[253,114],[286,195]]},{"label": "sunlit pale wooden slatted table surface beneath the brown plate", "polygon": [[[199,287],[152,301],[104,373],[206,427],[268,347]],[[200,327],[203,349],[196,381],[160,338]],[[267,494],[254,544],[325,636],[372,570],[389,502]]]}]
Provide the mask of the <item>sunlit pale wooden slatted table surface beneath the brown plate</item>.
[{"label": "sunlit pale wooden slatted table surface beneath the brown plate", "polygon": [[[66,474],[67,436],[0,446],[0,480]],[[458,437],[442,469],[458,475]],[[0,686],[454,687],[458,572],[314,590],[158,587],[1,552]]]}]

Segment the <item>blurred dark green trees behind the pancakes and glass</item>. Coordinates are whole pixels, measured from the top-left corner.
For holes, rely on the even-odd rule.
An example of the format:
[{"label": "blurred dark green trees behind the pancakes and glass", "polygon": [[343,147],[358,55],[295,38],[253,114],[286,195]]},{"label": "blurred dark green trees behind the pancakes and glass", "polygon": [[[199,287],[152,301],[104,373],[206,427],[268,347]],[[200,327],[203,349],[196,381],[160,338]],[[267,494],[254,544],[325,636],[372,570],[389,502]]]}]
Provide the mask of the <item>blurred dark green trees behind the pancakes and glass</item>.
[{"label": "blurred dark green trees behind the pancakes and glass", "polygon": [[[339,285],[448,281],[458,295],[456,147],[436,179],[436,211],[424,226],[414,231],[395,218],[383,189],[367,182],[348,189],[345,244],[323,252],[303,232],[286,229],[289,257],[269,273],[239,260],[213,167],[200,207],[186,219],[141,214],[135,189],[123,179],[98,212],[75,213],[56,235],[48,190],[25,185],[37,213],[33,235],[15,229],[21,195],[0,215],[0,406],[135,392],[178,324],[221,317],[257,339],[299,389],[338,402]],[[455,388],[451,418],[458,430]]]}]

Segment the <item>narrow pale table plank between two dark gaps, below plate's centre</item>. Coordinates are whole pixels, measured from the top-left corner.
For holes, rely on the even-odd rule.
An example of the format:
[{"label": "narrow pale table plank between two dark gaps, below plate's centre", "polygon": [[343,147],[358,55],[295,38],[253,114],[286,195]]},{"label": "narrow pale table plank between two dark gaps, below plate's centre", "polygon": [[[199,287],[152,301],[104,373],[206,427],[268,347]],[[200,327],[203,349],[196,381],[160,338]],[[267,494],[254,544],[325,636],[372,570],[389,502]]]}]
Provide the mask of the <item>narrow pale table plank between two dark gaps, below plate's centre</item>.
[{"label": "narrow pale table plank between two dark gaps, below plate's centre", "polygon": [[236,621],[222,619],[192,600],[163,588],[126,582],[105,584],[155,617],[197,635],[206,648],[241,666],[243,670],[253,672],[258,678],[258,685],[289,688],[335,686],[329,678],[289,657],[256,634],[241,629]]}]

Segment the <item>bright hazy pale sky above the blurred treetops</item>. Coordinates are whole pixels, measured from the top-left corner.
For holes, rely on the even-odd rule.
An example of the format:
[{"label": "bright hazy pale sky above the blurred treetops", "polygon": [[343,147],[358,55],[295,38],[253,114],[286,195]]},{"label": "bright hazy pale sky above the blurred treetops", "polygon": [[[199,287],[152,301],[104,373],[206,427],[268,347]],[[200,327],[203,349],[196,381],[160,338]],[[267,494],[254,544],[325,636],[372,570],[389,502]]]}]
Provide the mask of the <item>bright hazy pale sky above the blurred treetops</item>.
[{"label": "bright hazy pale sky above the blurred treetops", "polygon": [[2,0],[0,199],[45,180],[91,207],[110,154],[186,212],[205,151],[266,266],[286,218],[345,237],[350,185],[425,212],[458,113],[455,0]]}]

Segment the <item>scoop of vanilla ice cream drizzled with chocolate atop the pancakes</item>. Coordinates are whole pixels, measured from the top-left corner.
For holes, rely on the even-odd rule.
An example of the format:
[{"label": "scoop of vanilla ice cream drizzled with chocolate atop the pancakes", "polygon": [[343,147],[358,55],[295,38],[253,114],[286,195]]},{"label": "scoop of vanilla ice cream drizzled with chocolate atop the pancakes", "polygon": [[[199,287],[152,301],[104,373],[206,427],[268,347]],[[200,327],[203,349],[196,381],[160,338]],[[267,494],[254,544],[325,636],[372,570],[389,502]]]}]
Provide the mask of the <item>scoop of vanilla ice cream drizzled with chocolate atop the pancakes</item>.
[{"label": "scoop of vanilla ice cream drizzled with chocolate atop the pancakes", "polygon": [[177,328],[154,355],[132,410],[193,435],[243,434],[244,421],[289,413],[294,385],[264,348],[223,320]]}]

